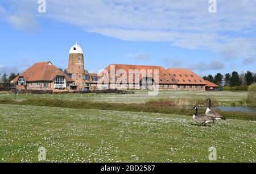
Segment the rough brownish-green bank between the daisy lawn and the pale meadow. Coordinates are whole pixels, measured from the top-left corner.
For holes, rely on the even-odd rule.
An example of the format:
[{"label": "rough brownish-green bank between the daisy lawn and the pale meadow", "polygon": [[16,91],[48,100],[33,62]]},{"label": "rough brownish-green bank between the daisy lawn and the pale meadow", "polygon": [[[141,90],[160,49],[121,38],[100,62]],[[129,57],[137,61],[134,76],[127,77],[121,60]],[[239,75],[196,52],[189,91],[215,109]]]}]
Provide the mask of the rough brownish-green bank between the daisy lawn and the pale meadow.
[{"label": "rough brownish-green bank between the daisy lawn and the pale meadow", "polygon": [[[49,106],[49,107],[67,107],[75,109],[99,109],[99,110],[117,110],[117,111],[135,111],[145,113],[163,113],[163,114],[177,114],[191,116],[195,111],[192,107],[185,106],[171,106],[171,105],[158,105],[154,102],[148,102],[145,105],[137,103],[99,103],[88,101],[67,101],[67,100],[47,100],[47,99],[28,99],[23,101],[13,100],[0,100],[0,104],[12,105],[32,105],[32,106]],[[199,113],[203,114],[206,107],[199,107]],[[241,119],[256,121],[256,115],[250,113],[243,113],[238,111],[218,111],[228,119]]]}]

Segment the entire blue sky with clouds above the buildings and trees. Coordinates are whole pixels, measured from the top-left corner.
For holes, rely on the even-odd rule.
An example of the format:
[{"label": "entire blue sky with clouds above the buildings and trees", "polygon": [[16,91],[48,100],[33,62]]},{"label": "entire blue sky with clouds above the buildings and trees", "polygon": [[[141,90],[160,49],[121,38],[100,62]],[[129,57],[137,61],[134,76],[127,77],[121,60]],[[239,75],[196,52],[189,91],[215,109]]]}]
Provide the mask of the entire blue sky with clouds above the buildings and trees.
[{"label": "entire blue sky with clouds above the buildings and trees", "polygon": [[0,1],[0,73],[51,60],[68,67],[75,42],[90,72],[110,63],[256,72],[256,1]]}]

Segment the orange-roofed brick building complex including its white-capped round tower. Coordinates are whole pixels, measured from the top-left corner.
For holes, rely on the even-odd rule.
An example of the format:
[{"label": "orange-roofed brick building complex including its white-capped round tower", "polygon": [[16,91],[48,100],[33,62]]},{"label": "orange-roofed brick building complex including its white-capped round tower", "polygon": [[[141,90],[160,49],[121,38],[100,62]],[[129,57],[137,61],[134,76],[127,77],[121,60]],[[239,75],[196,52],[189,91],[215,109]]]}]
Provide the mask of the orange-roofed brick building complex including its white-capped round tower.
[{"label": "orange-roofed brick building complex including its white-capped round tower", "polygon": [[16,77],[18,89],[81,92],[101,89],[217,90],[184,68],[164,69],[160,66],[110,64],[101,73],[85,70],[84,51],[77,43],[69,50],[68,68],[64,72],[50,61],[36,63]]}]

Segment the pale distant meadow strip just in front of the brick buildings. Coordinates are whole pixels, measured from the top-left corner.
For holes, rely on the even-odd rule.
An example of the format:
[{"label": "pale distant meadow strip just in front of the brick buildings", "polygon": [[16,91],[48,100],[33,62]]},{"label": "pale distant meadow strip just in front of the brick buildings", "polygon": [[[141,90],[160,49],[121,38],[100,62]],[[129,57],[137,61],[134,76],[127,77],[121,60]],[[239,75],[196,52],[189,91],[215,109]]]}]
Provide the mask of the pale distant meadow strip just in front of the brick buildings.
[{"label": "pale distant meadow strip just in front of the brick buildings", "polygon": [[[115,102],[115,103],[146,103],[150,100],[170,99],[183,100],[204,100],[212,98],[219,102],[219,105],[241,105],[246,100],[247,92],[200,92],[200,91],[167,91],[160,90],[157,96],[148,96],[147,90],[135,90],[135,94],[19,94],[16,100],[32,98],[53,98],[60,100],[86,100],[94,102]],[[14,99],[14,94],[0,93],[1,98]]]}]

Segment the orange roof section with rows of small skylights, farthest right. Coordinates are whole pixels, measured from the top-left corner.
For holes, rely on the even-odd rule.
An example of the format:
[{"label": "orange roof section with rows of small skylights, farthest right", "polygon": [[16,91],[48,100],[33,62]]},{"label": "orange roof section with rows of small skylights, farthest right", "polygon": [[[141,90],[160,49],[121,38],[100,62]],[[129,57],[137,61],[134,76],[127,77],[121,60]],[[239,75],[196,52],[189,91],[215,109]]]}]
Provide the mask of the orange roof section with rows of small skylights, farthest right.
[{"label": "orange roof section with rows of small skylights, farthest right", "polygon": [[205,85],[203,78],[197,76],[196,73],[184,68],[168,68],[168,73],[172,74],[177,84],[180,85]]}]

